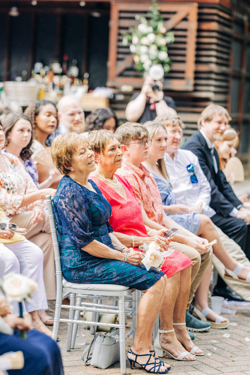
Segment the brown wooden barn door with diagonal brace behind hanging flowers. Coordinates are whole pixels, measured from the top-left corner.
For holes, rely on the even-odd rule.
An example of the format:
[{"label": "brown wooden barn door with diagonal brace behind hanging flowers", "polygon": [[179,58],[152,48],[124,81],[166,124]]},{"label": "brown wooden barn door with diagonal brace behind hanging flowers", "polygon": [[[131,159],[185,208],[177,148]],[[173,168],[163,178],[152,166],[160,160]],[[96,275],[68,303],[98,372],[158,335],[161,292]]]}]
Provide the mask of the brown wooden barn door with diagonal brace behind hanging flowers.
[{"label": "brown wooden barn door with diagonal brace behind hanging flowers", "polygon": [[[158,4],[167,31],[173,31],[175,42],[168,45],[171,71],[166,75],[164,88],[177,91],[192,91],[195,71],[195,49],[197,30],[197,3]],[[142,86],[142,78],[136,72],[133,54],[129,46],[122,45],[122,32],[138,25],[135,15],[147,17],[148,3],[112,3],[109,31],[109,58],[107,86]]]}]

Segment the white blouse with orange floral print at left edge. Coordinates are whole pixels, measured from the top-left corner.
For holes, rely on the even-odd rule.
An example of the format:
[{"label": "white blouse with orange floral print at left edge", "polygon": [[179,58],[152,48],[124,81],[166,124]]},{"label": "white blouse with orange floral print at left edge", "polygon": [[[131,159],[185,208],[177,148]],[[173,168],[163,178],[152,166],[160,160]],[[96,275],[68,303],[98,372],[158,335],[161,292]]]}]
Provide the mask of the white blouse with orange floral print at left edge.
[{"label": "white blouse with orange floral print at left edge", "polygon": [[33,203],[24,207],[20,205],[25,194],[36,190],[38,192],[36,184],[25,171],[18,157],[8,152],[0,152],[9,168],[8,172],[3,172],[0,167],[0,207],[7,216],[32,210]]}]

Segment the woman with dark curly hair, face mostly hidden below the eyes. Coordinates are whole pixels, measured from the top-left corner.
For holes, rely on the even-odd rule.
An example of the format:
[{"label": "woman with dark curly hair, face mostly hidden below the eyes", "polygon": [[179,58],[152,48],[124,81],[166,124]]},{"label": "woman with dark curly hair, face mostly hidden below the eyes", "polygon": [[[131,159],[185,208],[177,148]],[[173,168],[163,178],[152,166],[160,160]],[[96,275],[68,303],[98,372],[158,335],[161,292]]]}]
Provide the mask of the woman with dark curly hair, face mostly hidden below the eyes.
[{"label": "woman with dark curly hair, face mostly hidden below the eyes", "polygon": [[92,130],[111,130],[115,132],[118,127],[118,118],[111,108],[98,108],[92,111],[85,119],[86,132],[90,133]]}]

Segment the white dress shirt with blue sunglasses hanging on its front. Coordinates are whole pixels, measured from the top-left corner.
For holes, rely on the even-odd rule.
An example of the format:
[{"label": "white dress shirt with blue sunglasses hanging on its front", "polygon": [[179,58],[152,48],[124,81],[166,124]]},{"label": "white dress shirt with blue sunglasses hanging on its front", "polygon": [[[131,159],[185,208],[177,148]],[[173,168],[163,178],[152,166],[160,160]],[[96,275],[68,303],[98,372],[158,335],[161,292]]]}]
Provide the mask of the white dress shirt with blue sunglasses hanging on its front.
[{"label": "white dress shirt with blue sunglasses hanging on its front", "polygon": [[[174,153],[174,160],[166,153],[164,161],[173,185],[177,204],[186,204],[192,207],[202,202],[202,213],[208,217],[214,216],[216,212],[209,206],[211,200],[210,183],[199,165],[198,157],[192,151],[178,149]],[[193,164],[194,173],[198,179],[196,184],[193,184],[190,180],[193,172],[187,171],[189,164]]]}]

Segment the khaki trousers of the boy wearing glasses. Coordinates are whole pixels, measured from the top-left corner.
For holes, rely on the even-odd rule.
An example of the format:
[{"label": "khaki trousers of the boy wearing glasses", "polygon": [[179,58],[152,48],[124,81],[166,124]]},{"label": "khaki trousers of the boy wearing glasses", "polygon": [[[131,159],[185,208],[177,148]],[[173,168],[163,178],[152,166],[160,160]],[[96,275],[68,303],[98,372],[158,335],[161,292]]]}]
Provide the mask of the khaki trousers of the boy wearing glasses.
[{"label": "khaki trousers of the boy wearing glasses", "polygon": [[196,289],[199,287],[208,264],[211,261],[212,253],[207,252],[206,254],[200,254],[197,250],[190,248],[190,246],[175,241],[171,241],[171,243],[169,244],[169,248],[176,249],[180,253],[186,254],[193,262],[191,270],[191,289],[189,294],[189,301],[187,303],[187,310],[189,310]]}]

